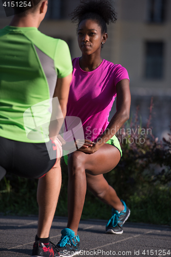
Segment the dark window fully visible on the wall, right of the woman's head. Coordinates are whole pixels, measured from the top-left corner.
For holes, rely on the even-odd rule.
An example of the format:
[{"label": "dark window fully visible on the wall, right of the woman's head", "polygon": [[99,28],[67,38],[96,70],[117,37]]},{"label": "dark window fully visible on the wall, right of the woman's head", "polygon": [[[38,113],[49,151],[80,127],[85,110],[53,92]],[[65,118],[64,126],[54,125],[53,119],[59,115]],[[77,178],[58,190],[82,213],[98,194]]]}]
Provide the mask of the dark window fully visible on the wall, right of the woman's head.
[{"label": "dark window fully visible on the wall, right of the woman's head", "polygon": [[145,77],[147,79],[163,78],[163,42],[146,42]]}]

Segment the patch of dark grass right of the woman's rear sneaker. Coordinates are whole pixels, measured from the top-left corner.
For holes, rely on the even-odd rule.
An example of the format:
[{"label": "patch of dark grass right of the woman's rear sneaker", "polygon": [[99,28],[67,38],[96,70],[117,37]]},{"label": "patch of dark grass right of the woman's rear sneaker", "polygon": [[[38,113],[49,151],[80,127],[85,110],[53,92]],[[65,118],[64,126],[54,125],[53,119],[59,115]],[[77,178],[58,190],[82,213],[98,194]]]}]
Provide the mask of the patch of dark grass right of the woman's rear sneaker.
[{"label": "patch of dark grass right of the woman's rear sneaker", "polygon": [[131,209],[130,222],[143,222],[171,226],[171,188],[152,188],[141,197],[135,193],[130,196],[128,206]]}]

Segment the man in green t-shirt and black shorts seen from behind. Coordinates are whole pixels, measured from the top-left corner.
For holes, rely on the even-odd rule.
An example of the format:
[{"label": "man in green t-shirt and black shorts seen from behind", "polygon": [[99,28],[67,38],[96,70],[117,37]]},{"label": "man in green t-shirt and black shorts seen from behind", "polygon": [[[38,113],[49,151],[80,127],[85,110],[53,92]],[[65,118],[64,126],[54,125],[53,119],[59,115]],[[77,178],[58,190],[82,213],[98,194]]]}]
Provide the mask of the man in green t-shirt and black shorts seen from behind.
[{"label": "man in green t-shirt and black shorts seen from behind", "polygon": [[[56,135],[62,122],[49,126],[49,99],[58,97],[60,106],[55,107],[65,118],[72,63],[64,41],[37,30],[48,1],[33,0],[34,7],[22,9],[16,4],[19,2],[15,1],[10,25],[0,30],[0,179],[6,171],[40,178],[39,223],[32,256],[53,257],[59,256],[49,242],[49,231],[61,189],[60,158],[54,154],[61,150]],[[53,117],[54,111],[53,107]]]}]

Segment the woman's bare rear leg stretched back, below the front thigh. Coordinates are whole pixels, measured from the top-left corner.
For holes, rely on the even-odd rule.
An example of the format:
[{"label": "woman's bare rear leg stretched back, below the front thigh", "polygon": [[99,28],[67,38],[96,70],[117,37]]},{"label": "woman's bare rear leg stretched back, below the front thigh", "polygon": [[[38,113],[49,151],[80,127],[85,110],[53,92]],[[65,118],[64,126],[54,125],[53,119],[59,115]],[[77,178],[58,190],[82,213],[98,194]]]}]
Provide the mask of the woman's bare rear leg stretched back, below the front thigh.
[{"label": "woman's bare rear leg stretched back, below the front thigh", "polygon": [[103,174],[92,176],[86,174],[87,177],[87,189],[98,197],[105,204],[111,206],[117,211],[123,211],[124,206],[118,197],[115,189],[109,186],[108,182],[104,178]]}]

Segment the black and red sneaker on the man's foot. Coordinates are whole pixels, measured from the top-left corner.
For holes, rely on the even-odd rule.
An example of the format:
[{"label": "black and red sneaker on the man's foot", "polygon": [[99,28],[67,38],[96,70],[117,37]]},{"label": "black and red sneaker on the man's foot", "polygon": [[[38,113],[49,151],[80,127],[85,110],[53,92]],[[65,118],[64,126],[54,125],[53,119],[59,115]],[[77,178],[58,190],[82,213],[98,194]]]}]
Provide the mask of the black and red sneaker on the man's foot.
[{"label": "black and red sneaker on the man's foot", "polygon": [[32,257],[56,257],[60,256],[58,247],[52,242],[43,244],[40,241],[36,241],[33,245]]}]

